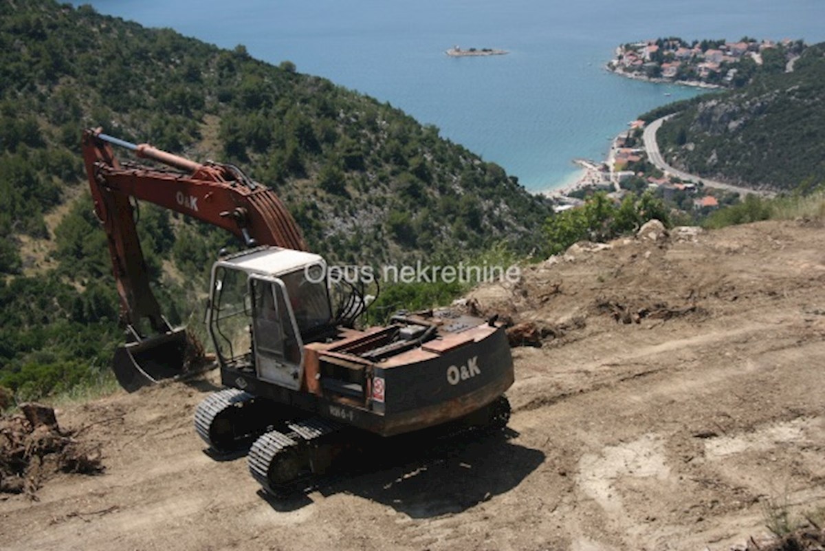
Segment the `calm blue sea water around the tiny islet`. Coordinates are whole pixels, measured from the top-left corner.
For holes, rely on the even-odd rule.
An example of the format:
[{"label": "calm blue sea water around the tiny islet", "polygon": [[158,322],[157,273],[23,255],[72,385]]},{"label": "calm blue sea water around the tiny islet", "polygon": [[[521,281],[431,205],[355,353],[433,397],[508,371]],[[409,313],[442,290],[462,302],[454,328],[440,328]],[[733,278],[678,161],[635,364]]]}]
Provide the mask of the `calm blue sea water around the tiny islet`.
[{"label": "calm blue sea water around the tiny islet", "polygon": [[[602,66],[616,45],[659,35],[825,40],[825,2],[798,0],[92,0],[98,12],[184,35],[389,101],[502,165],[532,191],[602,158],[629,120],[700,93]],[[450,58],[444,50],[511,53]],[[669,97],[665,94],[671,94]]]}]

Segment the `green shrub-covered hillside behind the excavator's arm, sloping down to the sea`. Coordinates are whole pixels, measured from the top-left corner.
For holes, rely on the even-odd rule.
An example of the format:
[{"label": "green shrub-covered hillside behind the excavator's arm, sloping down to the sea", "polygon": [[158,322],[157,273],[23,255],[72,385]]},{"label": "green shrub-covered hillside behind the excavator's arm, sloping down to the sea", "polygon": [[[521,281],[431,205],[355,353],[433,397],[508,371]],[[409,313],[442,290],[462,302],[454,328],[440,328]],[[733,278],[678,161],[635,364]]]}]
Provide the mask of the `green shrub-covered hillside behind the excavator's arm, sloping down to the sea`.
[{"label": "green shrub-covered hillside behind the excavator's arm, sloping down to the sea", "polygon": [[[18,393],[97,377],[120,339],[83,181],[86,127],[238,164],[332,261],[458,261],[543,243],[549,206],[501,167],[289,61],[49,0],[0,0],[0,52],[0,385]],[[140,218],[170,318],[199,318],[229,235],[148,205]]]}]

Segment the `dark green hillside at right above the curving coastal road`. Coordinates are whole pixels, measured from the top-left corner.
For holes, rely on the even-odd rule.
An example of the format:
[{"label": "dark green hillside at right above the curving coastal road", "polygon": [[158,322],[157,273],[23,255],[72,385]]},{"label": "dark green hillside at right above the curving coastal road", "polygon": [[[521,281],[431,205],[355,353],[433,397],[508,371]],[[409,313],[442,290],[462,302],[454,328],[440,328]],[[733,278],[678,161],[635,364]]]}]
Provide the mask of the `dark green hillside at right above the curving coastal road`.
[{"label": "dark green hillside at right above the curving coastal road", "polygon": [[746,186],[787,191],[823,183],[823,56],[825,45],[812,46],[792,73],[758,75],[740,90],[681,104],[686,109],[657,136],[667,161]]}]

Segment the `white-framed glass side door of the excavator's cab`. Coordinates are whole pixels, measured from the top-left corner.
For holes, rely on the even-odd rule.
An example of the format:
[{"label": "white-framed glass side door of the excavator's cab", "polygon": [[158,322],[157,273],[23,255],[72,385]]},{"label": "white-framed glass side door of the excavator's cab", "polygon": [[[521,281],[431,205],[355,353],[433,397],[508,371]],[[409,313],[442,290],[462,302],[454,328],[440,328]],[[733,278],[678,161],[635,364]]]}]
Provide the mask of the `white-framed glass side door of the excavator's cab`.
[{"label": "white-framed glass side door of the excavator's cab", "polygon": [[252,297],[252,349],[258,379],[298,390],[304,374],[304,343],[284,282],[249,276]]}]

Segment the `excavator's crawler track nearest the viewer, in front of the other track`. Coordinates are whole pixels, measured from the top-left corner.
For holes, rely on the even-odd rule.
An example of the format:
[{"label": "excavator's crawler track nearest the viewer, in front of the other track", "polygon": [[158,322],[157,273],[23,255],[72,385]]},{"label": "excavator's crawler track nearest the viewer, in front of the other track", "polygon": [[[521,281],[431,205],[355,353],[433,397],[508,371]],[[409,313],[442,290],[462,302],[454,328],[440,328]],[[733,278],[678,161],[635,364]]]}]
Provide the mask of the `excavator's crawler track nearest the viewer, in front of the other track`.
[{"label": "excavator's crawler track nearest the viewer, in front of the other track", "polygon": [[[252,473],[252,478],[255,478],[257,483],[261,484],[266,492],[276,496],[282,496],[295,491],[299,483],[309,481],[313,476],[312,473],[308,473],[306,476],[290,481],[290,483],[272,487],[269,481],[269,468],[272,461],[276,459],[276,456],[290,448],[295,448],[299,445],[309,445],[313,440],[330,435],[342,428],[341,424],[335,421],[328,421],[321,417],[311,417],[303,421],[293,421],[288,423],[287,426],[290,427],[288,434],[279,431],[269,431],[255,440],[247,457],[249,472]],[[309,468],[309,464],[307,468]]]}]

